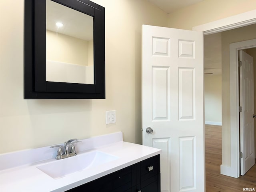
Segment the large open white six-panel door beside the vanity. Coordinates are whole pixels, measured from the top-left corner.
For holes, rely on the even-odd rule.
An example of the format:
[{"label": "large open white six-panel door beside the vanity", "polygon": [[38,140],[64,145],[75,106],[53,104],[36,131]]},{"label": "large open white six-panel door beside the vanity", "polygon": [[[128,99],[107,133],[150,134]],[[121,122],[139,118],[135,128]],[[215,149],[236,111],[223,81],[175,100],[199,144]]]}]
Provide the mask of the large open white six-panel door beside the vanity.
[{"label": "large open white six-panel door beside the vanity", "polygon": [[142,140],[164,192],[205,191],[203,69],[202,32],[142,26]]}]

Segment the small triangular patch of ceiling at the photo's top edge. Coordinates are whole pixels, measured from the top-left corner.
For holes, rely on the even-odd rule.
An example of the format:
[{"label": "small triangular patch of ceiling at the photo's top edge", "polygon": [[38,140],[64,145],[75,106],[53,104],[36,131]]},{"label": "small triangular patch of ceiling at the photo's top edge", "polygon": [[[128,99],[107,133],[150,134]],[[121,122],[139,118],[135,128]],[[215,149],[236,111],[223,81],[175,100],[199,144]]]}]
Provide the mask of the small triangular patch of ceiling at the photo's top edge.
[{"label": "small triangular patch of ceiling at the photo's top edge", "polygon": [[204,0],[148,0],[152,2],[154,5],[158,6],[166,13],[171,13],[177,9],[187,7]]}]

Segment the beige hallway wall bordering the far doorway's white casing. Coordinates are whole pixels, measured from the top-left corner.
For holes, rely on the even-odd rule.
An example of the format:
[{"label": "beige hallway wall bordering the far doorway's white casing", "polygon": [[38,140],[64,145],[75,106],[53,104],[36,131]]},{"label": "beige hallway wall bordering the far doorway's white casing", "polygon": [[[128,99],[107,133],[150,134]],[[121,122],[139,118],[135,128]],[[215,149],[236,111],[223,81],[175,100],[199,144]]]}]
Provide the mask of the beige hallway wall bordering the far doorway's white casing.
[{"label": "beige hallway wall bordering the far doorway's white casing", "polygon": [[256,38],[256,24],[222,32],[222,164],[230,165],[229,44]]}]

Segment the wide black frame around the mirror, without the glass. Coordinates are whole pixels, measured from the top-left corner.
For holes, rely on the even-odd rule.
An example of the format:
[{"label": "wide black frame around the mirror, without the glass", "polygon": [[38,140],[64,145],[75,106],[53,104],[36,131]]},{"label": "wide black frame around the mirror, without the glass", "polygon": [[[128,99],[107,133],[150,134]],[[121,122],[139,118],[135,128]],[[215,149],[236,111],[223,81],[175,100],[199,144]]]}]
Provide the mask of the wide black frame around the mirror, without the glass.
[{"label": "wide black frame around the mirror, without the glass", "polygon": [[46,81],[46,0],[24,0],[24,99],[104,99],[104,7],[89,0],[52,1],[94,17],[94,84]]}]

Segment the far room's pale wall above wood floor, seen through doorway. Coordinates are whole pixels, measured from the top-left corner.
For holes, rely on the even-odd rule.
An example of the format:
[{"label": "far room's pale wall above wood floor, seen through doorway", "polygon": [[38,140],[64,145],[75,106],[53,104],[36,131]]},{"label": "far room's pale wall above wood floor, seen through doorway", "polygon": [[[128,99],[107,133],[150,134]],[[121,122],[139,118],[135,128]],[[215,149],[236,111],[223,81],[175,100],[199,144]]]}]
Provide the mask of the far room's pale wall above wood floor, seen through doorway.
[{"label": "far room's pale wall above wood floor, seen through doorway", "polygon": [[205,122],[221,123],[221,74],[204,75]]}]

